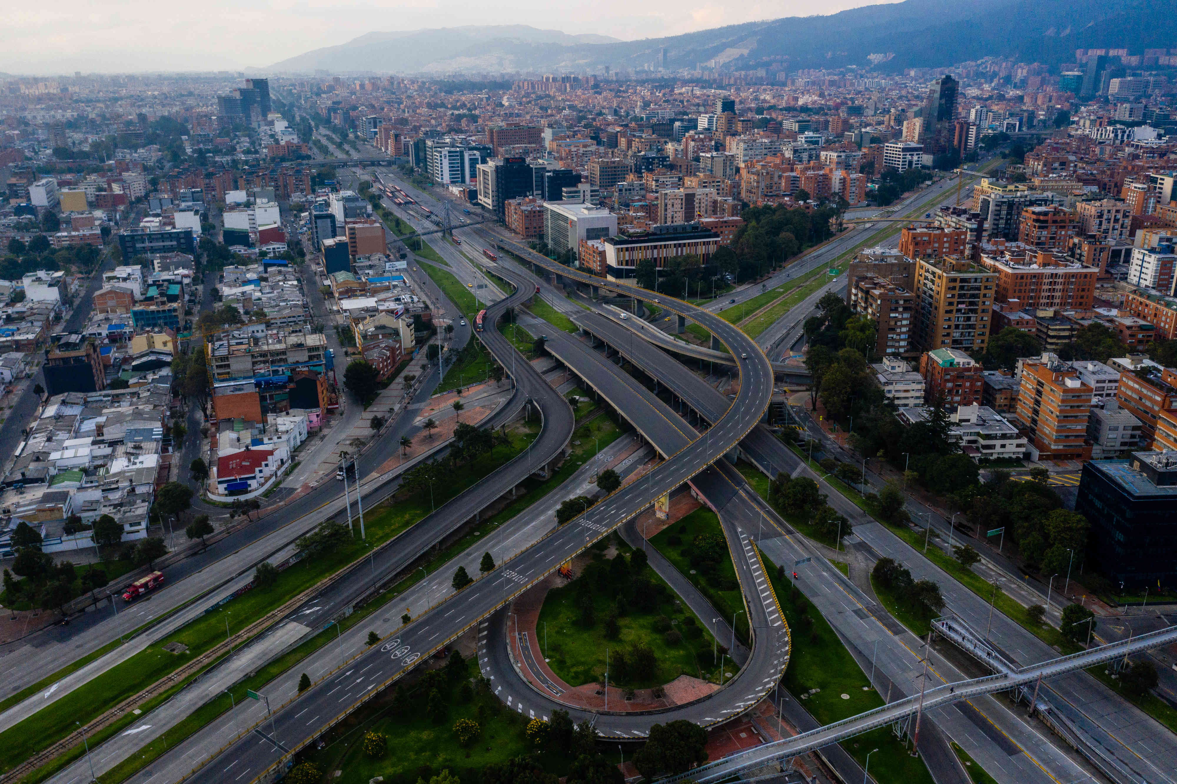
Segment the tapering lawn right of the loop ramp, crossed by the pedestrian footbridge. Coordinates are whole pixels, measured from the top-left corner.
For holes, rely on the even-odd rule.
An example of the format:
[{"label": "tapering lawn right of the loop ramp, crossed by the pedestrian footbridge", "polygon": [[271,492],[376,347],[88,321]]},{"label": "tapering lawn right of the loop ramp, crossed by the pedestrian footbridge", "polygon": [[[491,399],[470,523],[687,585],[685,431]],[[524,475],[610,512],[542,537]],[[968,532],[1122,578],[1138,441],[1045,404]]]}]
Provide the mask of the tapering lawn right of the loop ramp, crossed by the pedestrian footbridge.
[{"label": "tapering lawn right of the loop ramp, crossed by the pedestrian footbridge", "polygon": [[[763,557],[763,553],[762,553]],[[767,558],[765,571],[777,594],[792,632],[792,652],[785,670],[785,689],[802,699],[802,705],[822,724],[830,724],[883,704],[882,697],[870,685],[866,673],[838,639],[830,624]],[[804,603],[804,604],[803,604]],[[802,607],[806,609],[802,613]],[[810,620],[803,620],[809,618]],[[816,695],[810,690],[820,689]],[[846,695],[846,699],[843,699]],[[843,748],[858,760],[866,762],[871,753],[870,775],[880,784],[932,784],[932,776],[919,757],[912,757],[890,727],[873,730],[844,742]]]}]

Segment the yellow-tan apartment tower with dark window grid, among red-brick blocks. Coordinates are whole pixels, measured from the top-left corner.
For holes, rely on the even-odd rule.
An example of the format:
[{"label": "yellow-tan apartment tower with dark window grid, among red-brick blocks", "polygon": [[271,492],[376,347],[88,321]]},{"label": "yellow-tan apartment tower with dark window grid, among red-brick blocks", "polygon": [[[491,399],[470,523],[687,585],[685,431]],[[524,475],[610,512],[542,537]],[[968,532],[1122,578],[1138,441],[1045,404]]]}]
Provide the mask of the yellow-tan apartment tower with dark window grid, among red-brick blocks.
[{"label": "yellow-tan apartment tower with dark window grid, among red-brick blocks", "polygon": [[997,274],[962,259],[918,259],[917,340],[924,351],[984,351]]}]

